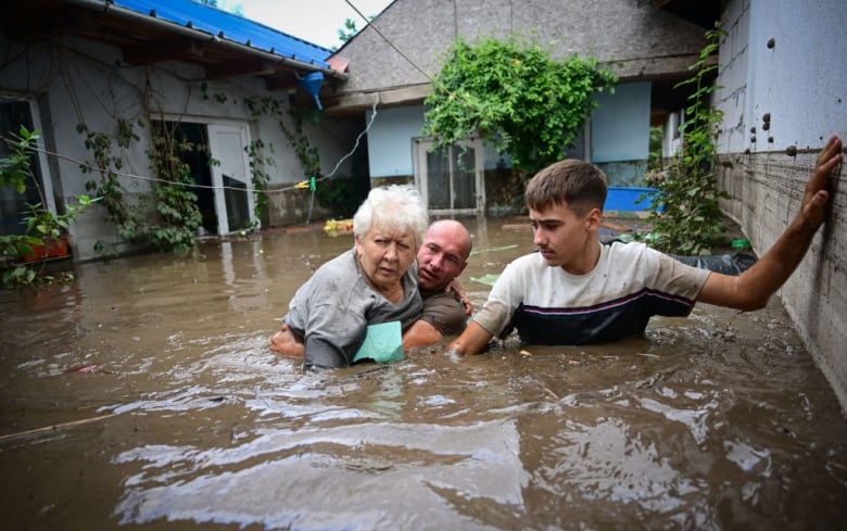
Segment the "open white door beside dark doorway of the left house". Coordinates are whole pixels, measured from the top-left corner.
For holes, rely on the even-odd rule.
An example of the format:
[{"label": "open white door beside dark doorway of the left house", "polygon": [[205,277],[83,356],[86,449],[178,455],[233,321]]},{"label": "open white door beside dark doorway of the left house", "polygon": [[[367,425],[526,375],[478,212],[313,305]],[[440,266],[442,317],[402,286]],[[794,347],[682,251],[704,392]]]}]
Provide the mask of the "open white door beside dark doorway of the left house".
[{"label": "open white door beside dark doorway of the left house", "polygon": [[215,187],[217,233],[258,227],[253,182],[246,148],[250,135],[245,125],[210,125],[208,149],[212,185]]}]

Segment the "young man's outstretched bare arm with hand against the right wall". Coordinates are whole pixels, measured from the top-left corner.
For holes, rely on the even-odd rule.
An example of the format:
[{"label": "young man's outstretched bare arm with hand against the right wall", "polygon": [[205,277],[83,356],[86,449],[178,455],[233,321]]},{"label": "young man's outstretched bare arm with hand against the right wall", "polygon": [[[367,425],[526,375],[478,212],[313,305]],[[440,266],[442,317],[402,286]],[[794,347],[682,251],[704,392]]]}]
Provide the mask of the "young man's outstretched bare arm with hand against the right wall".
[{"label": "young man's outstretched bare arm with hand against the right wall", "polygon": [[763,307],[788,279],[809,249],[814,233],[826,218],[830,175],[840,164],[842,141],[833,136],[818,154],[814,170],[806,184],[797,216],[773,246],[738,276],[712,273],[697,300],[743,311]]}]

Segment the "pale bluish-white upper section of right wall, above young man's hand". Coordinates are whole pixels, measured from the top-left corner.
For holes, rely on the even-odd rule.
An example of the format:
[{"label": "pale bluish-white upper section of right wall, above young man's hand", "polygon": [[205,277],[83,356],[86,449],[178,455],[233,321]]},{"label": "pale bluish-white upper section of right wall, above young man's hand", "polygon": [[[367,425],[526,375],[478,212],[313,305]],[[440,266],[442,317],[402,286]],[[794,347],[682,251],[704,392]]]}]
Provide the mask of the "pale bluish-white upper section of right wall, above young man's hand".
[{"label": "pale bluish-white upper section of right wall, above young man's hand", "polygon": [[736,0],[724,18],[723,88],[716,93],[725,113],[721,152],[814,149],[832,134],[845,136],[847,2]]}]

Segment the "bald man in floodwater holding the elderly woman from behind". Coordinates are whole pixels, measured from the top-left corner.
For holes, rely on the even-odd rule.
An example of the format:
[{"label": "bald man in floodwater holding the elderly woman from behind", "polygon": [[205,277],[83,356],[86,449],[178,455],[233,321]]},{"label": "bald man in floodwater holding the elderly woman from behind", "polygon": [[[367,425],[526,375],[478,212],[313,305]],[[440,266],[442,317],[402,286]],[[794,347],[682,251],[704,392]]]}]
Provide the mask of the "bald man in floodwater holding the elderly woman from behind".
[{"label": "bald man in floodwater holding the elderly woman from behind", "polygon": [[[403,332],[404,351],[435,344],[465,329],[470,306],[454,280],[468,265],[470,250],[470,233],[459,222],[441,219],[427,229],[416,256],[423,309]],[[270,339],[270,350],[287,356],[304,355],[303,341],[285,323]]]}]

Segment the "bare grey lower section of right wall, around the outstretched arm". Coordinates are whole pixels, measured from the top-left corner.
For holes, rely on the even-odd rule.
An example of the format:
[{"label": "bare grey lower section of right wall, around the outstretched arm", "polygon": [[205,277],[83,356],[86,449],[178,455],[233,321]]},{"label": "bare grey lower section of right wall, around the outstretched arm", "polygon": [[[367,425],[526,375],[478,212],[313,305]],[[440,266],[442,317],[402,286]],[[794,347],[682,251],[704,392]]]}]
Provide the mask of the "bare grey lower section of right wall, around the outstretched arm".
[{"label": "bare grey lower section of right wall, around the outstretched arm", "polygon": [[[797,214],[817,150],[723,155],[718,173],[733,195],[724,211],[735,219],[761,256]],[[842,169],[827,223],[806,257],[776,293],[816,364],[847,412],[847,188]]]}]

